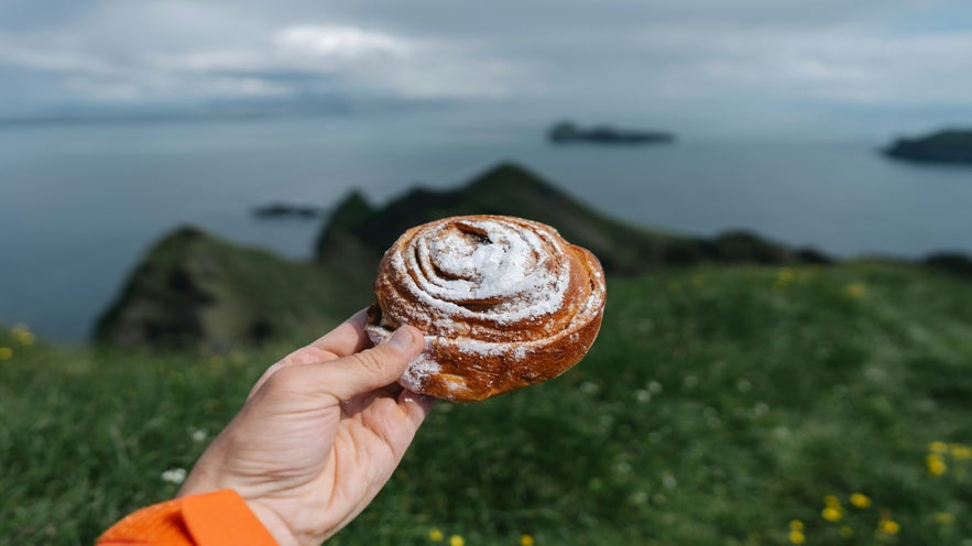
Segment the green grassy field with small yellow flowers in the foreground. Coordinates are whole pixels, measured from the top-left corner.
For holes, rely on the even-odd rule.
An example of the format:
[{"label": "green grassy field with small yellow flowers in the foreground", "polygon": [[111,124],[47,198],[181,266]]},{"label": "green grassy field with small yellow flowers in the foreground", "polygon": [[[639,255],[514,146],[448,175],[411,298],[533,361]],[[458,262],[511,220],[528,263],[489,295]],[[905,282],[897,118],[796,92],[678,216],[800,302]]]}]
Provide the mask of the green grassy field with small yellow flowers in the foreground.
[{"label": "green grassy field with small yellow flowers in the foreground", "polygon": [[[288,349],[123,354],[4,329],[0,542],[90,544],[170,498],[165,472]],[[612,279],[583,362],[439,404],[332,544],[970,545],[970,446],[968,282],[878,263]]]}]

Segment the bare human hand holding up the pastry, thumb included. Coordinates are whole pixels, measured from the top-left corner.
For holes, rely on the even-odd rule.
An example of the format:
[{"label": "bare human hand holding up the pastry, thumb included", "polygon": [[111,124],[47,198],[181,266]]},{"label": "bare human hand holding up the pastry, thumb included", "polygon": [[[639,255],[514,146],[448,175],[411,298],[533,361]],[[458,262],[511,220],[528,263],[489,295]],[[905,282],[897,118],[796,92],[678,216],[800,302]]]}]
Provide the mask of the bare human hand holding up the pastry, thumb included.
[{"label": "bare human hand holding up the pastry, thumb included", "polygon": [[179,496],[233,489],[282,546],[320,544],[364,510],[435,404],[394,383],[422,332],[403,326],[365,349],[364,320],[270,367]]}]

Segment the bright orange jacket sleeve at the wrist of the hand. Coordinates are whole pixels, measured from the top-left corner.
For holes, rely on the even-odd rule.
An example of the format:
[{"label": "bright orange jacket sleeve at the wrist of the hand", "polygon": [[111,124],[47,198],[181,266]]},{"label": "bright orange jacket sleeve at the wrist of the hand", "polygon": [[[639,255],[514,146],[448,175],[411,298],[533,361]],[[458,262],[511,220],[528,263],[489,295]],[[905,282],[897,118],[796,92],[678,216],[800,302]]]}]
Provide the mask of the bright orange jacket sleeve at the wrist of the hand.
[{"label": "bright orange jacket sleeve at the wrist of the hand", "polygon": [[139,510],[111,526],[97,546],[276,546],[231,489]]}]

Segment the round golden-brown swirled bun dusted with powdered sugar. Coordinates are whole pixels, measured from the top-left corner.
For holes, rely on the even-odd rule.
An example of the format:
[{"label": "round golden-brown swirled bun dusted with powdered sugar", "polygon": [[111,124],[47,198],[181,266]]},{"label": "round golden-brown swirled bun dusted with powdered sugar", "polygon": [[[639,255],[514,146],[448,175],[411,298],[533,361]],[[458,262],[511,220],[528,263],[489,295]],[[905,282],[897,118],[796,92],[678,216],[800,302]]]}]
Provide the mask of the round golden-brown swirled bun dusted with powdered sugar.
[{"label": "round golden-brown swirled bun dusted with powdered sugar", "polygon": [[546,225],[507,216],[445,218],[385,252],[368,331],[403,324],[426,350],[400,383],[454,401],[487,398],[559,375],[597,337],[604,273]]}]

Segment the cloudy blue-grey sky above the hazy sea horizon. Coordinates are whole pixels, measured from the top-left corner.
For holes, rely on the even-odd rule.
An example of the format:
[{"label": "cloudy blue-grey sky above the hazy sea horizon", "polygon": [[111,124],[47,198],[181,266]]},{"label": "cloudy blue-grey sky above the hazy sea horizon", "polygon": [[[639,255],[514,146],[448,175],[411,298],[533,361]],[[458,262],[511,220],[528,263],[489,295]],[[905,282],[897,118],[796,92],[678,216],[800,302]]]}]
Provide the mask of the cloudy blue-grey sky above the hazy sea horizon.
[{"label": "cloudy blue-grey sky above the hazy sea horizon", "polygon": [[969,0],[2,0],[0,117],[440,109],[972,127]]}]

